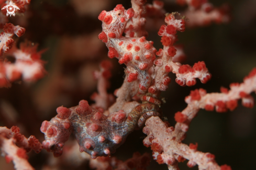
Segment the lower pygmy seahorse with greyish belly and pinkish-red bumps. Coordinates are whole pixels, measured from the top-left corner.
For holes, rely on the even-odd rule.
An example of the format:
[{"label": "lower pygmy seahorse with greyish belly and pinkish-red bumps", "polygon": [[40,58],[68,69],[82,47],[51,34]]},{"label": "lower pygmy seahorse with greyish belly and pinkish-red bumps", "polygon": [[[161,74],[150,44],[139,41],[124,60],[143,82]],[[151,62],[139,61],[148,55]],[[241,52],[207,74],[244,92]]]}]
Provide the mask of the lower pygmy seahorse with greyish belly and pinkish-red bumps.
[{"label": "lower pygmy seahorse with greyish belly and pinkish-red bumps", "polygon": [[107,156],[125,142],[129,133],[144,126],[151,116],[161,116],[158,105],[144,103],[130,111],[126,117],[123,110],[108,116],[90,107],[86,100],[79,106],[57,108],[58,115],[50,121],[43,121],[41,132],[45,140],[43,148],[53,152],[55,157],[62,154],[64,143],[73,132],[80,146],[80,152],[86,152],[92,158]]}]

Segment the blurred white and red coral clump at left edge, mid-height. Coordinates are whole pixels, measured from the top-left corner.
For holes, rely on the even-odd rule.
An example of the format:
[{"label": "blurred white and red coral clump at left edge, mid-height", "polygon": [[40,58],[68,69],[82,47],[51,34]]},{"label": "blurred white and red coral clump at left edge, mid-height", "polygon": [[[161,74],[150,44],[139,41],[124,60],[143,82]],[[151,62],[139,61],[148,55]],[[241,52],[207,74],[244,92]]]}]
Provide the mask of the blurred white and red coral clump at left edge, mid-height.
[{"label": "blurred white and red coral clump at left edge, mid-height", "polygon": [[37,51],[38,44],[25,41],[20,43],[20,49],[14,49],[8,52],[8,55],[14,56],[14,63],[6,60],[0,61],[0,87],[9,87],[10,82],[18,80],[20,77],[25,82],[33,82],[42,78],[46,71],[43,67],[41,54],[45,51]]}]

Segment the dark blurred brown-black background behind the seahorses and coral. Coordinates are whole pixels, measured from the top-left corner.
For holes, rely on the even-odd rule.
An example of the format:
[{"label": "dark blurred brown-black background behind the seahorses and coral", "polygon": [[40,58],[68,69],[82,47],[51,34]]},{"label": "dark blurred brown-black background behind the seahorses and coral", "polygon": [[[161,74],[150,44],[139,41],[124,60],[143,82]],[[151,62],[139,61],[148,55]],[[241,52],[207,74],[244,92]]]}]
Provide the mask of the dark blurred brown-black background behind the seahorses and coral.
[{"label": "dark blurred brown-black background behind the seahorses and coral", "polygon": [[[101,32],[101,21],[97,16],[101,10],[112,10],[117,4],[123,4],[126,9],[131,5],[129,1],[117,0],[96,1],[95,4],[82,2],[86,1],[80,2],[80,6],[85,4],[84,10],[73,5],[73,1],[32,0],[24,15],[9,18],[12,24],[26,28],[25,35],[16,39],[17,44],[28,39],[39,43],[39,50],[48,48],[42,54],[42,60],[47,61],[45,66],[48,74],[34,84],[18,82],[13,83],[11,88],[0,89],[0,126],[19,126],[27,137],[33,134],[42,142],[41,122],[54,117],[55,108],[61,105],[76,106],[81,99],[93,103],[90,95],[96,91],[96,81],[92,78],[92,71],[98,69],[100,61],[108,59],[105,44],[97,40],[97,35]],[[211,2],[215,6],[228,3],[232,19],[228,24],[186,28],[185,32],[178,33],[177,43],[184,45],[187,55],[183,64],[193,65],[198,61],[205,61],[213,77],[207,84],[197,80],[193,87],[181,87],[175,83],[175,75],[170,73],[172,82],[162,94],[167,101],[162,109],[172,126],[175,125],[175,112],[186,107],[184,98],[190,94],[190,90],[204,88],[208,93],[220,92],[221,86],[229,87],[232,82],[241,83],[243,77],[256,66],[256,1]],[[164,8],[169,13],[185,9],[175,5],[174,1],[164,3]],[[147,40],[154,41],[155,48],[159,49],[162,45],[157,32],[158,30],[149,31]],[[71,41],[73,39],[80,40]],[[124,65],[119,65],[116,59],[111,61],[114,69],[109,93],[121,86],[124,76]],[[255,98],[255,94],[252,95]],[[219,165],[228,164],[233,170],[256,169],[255,114],[255,107],[244,108],[241,102],[236,110],[224,114],[200,110],[183,142],[197,142],[198,150],[214,154]],[[143,137],[145,135],[141,130],[133,132],[114,156],[126,160],[136,151],[151,153],[150,149],[143,146]],[[30,163],[36,169],[41,169],[47,162],[45,151],[40,154],[30,153],[29,156]],[[3,157],[1,158],[0,165],[6,166]],[[179,164],[180,169],[189,169],[185,163]],[[83,164],[76,169],[85,167],[87,165]],[[12,169],[12,165],[6,166],[7,168]],[[168,168],[152,161],[149,169]]]}]

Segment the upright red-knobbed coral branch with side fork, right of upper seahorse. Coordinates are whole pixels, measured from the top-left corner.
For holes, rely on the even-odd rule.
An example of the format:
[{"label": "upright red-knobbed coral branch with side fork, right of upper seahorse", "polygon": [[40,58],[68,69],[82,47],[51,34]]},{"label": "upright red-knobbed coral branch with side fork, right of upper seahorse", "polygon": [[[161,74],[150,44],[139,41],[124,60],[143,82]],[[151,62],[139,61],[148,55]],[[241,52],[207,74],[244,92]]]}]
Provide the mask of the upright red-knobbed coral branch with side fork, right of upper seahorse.
[{"label": "upright red-knobbed coral branch with side fork, right of upper seahorse", "polygon": [[164,91],[168,88],[171,78],[169,72],[176,74],[176,82],[181,86],[193,86],[196,84],[195,78],[199,78],[202,83],[210,80],[210,73],[204,62],[195,63],[193,67],[190,65],[181,65],[179,62],[173,62],[172,59],[176,54],[176,49],[173,44],[177,41],[176,31],[185,31],[184,19],[175,19],[176,13],[166,14],[165,22],[167,26],[162,25],[158,35],[161,36],[163,49],[157,52],[160,56],[154,61],[157,66],[155,68],[155,76],[153,84],[149,88],[149,93],[159,94],[159,91]]}]

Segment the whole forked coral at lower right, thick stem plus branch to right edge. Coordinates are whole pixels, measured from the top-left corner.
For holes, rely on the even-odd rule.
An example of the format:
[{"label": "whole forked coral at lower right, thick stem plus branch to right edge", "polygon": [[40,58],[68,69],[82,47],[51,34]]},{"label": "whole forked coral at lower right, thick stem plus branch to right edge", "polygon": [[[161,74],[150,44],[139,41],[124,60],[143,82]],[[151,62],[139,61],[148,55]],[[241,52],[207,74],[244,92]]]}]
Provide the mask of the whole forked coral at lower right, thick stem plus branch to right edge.
[{"label": "whole forked coral at lower right, thick stem plus branch to right edge", "polygon": [[189,160],[188,167],[198,165],[199,169],[231,169],[227,165],[219,166],[213,154],[197,151],[197,144],[187,146],[181,143],[199,109],[213,110],[215,107],[217,112],[225,112],[228,109],[232,111],[237,107],[238,99],[242,99],[243,106],[253,107],[254,100],[250,93],[256,92],[256,68],[244,78],[243,83],[232,83],[230,88],[221,88],[222,93],[210,94],[204,89],[191,91],[190,96],[185,98],[187,107],[175,114],[175,128],[158,117],[149,118],[143,128],[143,132],[148,135],[143,143],[147,147],[151,146],[154,160],[159,164],[168,164],[169,169],[179,169],[177,163],[183,162],[184,158]]}]

